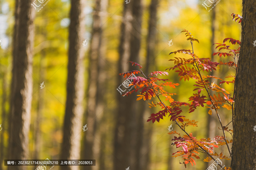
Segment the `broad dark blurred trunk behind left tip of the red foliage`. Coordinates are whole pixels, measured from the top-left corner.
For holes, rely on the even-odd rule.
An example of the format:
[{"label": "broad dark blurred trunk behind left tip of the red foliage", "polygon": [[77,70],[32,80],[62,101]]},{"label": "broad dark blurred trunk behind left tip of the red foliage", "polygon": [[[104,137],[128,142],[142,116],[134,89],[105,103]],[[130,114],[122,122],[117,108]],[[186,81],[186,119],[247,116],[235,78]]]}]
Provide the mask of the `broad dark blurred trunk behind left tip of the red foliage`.
[{"label": "broad dark blurred trunk behind left tip of the red foliage", "polygon": [[[121,24],[121,38],[119,45],[118,72],[123,73],[134,70],[128,61],[139,61],[139,50],[141,44],[141,0],[124,2],[123,20]],[[124,79],[118,76],[118,85]],[[122,97],[117,92],[117,115],[114,138],[114,170],[120,170],[132,166],[137,160],[134,155],[134,143],[136,141],[136,115],[138,113],[135,106],[136,95]],[[130,167],[132,168],[132,167]]]}]

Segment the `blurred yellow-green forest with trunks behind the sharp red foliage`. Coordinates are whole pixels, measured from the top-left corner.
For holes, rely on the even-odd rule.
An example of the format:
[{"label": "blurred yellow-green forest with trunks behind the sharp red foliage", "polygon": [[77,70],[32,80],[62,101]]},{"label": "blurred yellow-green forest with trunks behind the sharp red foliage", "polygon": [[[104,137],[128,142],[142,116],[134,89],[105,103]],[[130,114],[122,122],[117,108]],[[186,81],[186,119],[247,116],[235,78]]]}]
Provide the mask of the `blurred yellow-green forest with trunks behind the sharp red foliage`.
[{"label": "blurred yellow-green forest with trunks behind the sharp red foliage", "polygon": [[[198,56],[212,57],[212,44],[241,39],[241,25],[231,18],[241,15],[241,0],[222,0],[210,12],[198,0],[50,0],[41,10],[32,1],[16,2],[0,1],[0,170],[7,169],[4,159],[18,158],[96,160],[96,166],[71,167],[80,170],[185,169],[181,157],[172,157],[177,149],[167,134],[171,124],[181,130],[168,117],[146,122],[157,108],[136,101],[135,94],[122,97],[118,74],[138,70],[128,61],[141,64],[146,74],[170,68],[170,52],[191,49],[182,29],[199,40]],[[223,67],[214,74],[232,72]],[[193,81],[179,82],[172,71],[163,78],[180,83],[174,99],[188,102]],[[207,109],[182,114],[199,121],[188,128],[197,138],[222,135]],[[228,112],[221,118],[223,124],[231,120]],[[207,169],[205,156],[188,169]]]}]

